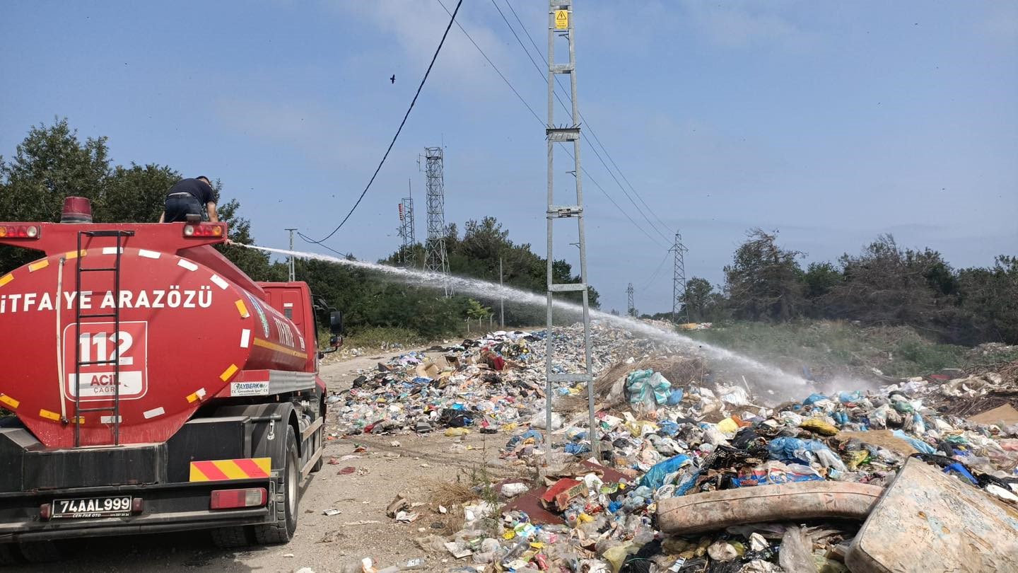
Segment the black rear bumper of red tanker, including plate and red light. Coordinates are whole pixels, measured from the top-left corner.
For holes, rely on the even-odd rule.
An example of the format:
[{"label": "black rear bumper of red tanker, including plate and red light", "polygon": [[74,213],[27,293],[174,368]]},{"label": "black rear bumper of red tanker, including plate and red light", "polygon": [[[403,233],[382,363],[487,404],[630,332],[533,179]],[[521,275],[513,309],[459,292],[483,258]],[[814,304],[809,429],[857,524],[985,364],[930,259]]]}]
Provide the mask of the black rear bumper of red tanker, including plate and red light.
[{"label": "black rear bumper of red tanker, including plate and red light", "polygon": [[[275,488],[270,477],[5,492],[0,543],[267,523],[276,519],[276,505],[268,503]],[[230,505],[245,492],[247,503],[260,505],[212,509],[214,499]]]}]

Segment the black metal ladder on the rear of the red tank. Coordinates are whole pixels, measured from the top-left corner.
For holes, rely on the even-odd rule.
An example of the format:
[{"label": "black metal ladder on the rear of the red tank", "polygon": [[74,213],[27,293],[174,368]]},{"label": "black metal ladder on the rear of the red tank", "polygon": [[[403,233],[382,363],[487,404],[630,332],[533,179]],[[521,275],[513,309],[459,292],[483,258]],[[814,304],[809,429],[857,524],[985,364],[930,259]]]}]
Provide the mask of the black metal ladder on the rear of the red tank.
[{"label": "black metal ladder on the rear of the red tank", "polygon": [[[120,258],[123,255],[123,239],[133,237],[133,230],[79,230],[77,231],[77,265],[74,270],[74,447],[81,446],[81,414],[90,412],[109,412],[113,426],[113,446],[120,446],[120,341],[114,341],[112,358],[98,357],[100,360],[81,360],[81,319],[112,318],[114,336],[120,332]],[[116,238],[116,253],[113,266],[82,267],[81,239],[101,237]],[[112,272],[113,273],[113,309],[111,312],[83,314],[81,312],[81,273]],[[81,366],[113,365],[113,406],[97,408],[81,408]]]}]

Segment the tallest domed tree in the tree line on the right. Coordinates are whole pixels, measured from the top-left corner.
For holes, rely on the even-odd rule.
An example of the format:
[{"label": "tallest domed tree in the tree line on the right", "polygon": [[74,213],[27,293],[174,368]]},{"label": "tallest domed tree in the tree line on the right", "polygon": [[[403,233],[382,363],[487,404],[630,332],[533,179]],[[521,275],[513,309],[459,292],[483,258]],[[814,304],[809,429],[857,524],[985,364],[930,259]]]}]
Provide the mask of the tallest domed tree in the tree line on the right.
[{"label": "tallest domed tree in the tree line on the right", "polygon": [[737,318],[791,320],[801,312],[799,251],[781,249],[777,233],[749,230],[725,267],[725,291]]}]

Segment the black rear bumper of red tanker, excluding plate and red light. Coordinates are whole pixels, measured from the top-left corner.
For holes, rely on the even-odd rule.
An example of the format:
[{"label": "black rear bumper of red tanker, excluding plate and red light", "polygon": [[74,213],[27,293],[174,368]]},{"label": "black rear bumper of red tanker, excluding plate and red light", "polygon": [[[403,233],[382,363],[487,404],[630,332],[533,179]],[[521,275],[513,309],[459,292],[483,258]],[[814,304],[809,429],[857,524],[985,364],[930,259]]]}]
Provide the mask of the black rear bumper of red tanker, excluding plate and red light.
[{"label": "black rear bumper of red tanker, excluding plate and red light", "polygon": [[[126,535],[250,525],[275,520],[275,504],[237,510],[210,510],[213,489],[265,487],[275,499],[272,479],[236,479],[195,483],[71,487],[35,492],[0,493],[0,543]],[[130,517],[53,519],[40,517],[40,507],[56,499],[131,496],[144,500],[142,512]]]}]

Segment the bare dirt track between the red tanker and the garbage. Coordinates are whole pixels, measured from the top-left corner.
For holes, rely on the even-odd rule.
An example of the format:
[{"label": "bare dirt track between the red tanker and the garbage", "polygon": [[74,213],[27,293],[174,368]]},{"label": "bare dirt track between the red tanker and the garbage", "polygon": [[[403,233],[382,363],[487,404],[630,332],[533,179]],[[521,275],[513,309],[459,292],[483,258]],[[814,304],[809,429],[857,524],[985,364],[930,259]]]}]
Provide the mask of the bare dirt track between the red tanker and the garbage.
[{"label": "bare dirt track between the red tanker and the garbage", "polygon": [[[348,388],[357,369],[375,368],[388,358],[376,354],[333,363],[323,367],[322,377],[330,389]],[[407,493],[411,502],[426,502],[434,481],[466,478],[486,458],[490,474],[510,475],[515,468],[505,467],[498,459],[498,450],[506,439],[501,434],[476,433],[465,439],[450,438],[439,432],[427,437],[369,435],[331,440],[325,458],[335,458],[337,463],[327,464],[304,483],[296,536],[286,545],[225,551],[213,545],[206,531],[98,537],[65,543],[68,555],[59,564],[3,571],[291,572],[308,567],[323,573],[341,571],[344,563],[363,557],[382,567],[405,565],[408,559],[422,557],[427,571],[442,571],[447,566],[442,559],[451,556],[429,555],[413,543],[415,537],[438,532],[437,517],[420,511],[421,517],[414,523],[395,523],[386,516],[386,506],[397,492]],[[393,440],[400,445],[391,446]],[[355,444],[366,447],[367,452],[339,461],[353,455]],[[339,473],[347,467],[356,470]],[[327,509],[342,513],[327,516],[323,514]]]}]

